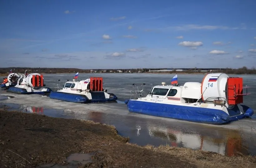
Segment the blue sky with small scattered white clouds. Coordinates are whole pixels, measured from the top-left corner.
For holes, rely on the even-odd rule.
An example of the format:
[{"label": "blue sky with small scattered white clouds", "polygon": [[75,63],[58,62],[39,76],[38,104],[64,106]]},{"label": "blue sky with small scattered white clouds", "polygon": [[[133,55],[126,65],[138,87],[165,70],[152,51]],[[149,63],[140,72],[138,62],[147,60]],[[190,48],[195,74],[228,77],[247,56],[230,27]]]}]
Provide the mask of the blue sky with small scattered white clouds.
[{"label": "blue sky with small scattered white clouds", "polygon": [[255,0],[2,0],[0,67],[256,67]]}]

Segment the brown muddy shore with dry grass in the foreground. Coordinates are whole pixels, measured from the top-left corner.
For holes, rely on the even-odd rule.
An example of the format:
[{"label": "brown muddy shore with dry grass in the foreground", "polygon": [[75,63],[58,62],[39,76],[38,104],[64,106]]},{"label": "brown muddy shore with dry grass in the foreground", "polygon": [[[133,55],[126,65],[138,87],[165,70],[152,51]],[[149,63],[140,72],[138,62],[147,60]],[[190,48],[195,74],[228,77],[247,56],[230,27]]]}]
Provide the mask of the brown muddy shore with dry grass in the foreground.
[{"label": "brown muddy shore with dry grass in the foreground", "polygon": [[[91,154],[75,167],[256,167],[256,157],[128,143],[113,126],[0,109],[0,167],[68,167],[73,153]],[[48,167],[50,167],[48,165]]]}]

